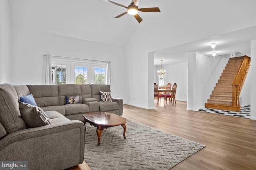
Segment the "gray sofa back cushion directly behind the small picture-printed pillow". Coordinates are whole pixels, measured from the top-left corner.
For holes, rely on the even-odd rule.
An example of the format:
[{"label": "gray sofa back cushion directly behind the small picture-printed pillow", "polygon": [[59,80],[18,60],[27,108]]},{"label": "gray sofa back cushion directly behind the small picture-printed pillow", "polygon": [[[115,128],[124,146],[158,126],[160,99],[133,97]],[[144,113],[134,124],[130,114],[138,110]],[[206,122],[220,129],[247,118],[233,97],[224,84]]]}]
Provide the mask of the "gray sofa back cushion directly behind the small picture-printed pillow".
[{"label": "gray sofa back cushion directly behind the small picture-printed pillow", "polygon": [[82,101],[82,91],[80,84],[59,84],[59,105],[66,104],[66,96],[78,96]]}]

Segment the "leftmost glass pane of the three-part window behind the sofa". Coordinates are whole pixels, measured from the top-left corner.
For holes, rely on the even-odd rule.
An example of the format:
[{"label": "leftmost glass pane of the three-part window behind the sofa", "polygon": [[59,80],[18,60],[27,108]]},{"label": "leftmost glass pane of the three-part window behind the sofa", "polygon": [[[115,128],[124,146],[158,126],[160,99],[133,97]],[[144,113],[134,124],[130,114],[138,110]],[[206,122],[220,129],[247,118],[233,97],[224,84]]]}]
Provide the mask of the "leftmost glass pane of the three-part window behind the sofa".
[{"label": "leftmost glass pane of the three-part window behind the sofa", "polygon": [[66,84],[66,65],[52,64],[52,84]]}]

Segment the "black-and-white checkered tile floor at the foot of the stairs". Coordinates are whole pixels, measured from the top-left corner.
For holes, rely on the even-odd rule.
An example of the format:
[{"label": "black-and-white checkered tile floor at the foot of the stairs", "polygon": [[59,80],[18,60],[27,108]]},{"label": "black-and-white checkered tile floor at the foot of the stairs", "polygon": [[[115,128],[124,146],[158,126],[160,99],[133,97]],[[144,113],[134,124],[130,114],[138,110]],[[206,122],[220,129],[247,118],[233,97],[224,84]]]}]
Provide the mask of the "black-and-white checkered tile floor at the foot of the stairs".
[{"label": "black-and-white checkered tile floor at the foot of the stairs", "polygon": [[204,112],[208,112],[208,113],[215,113],[215,114],[229,115],[229,116],[234,116],[234,117],[242,117],[242,118],[250,119],[251,105],[241,107],[240,112],[228,111],[228,110],[218,110],[218,109],[209,109],[209,108],[199,109],[198,111],[204,111]]}]

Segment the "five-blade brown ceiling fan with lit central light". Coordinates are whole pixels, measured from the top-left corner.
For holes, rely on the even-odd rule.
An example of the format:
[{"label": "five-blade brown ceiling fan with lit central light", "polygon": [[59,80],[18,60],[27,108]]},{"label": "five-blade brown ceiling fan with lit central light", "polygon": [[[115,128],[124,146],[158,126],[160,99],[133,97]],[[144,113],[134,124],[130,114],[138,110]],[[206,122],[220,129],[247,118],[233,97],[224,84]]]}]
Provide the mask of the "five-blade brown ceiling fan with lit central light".
[{"label": "five-blade brown ceiling fan with lit central light", "polygon": [[121,5],[121,4],[118,4],[116,2],[112,2],[110,0],[108,0],[108,2],[111,2],[112,4],[115,4],[117,6],[121,6],[123,8],[126,8],[127,11],[120,14],[119,16],[116,16],[115,18],[119,18],[121,16],[123,16],[124,14],[130,14],[130,15],[133,15],[134,18],[136,18],[136,20],[140,23],[142,21],[142,18],[138,15],[138,11],[141,11],[141,12],[160,12],[159,8],[158,7],[155,7],[155,8],[138,8],[138,5],[140,3],[140,0],[132,0],[132,3],[127,7],[127,6],[124,6],[124,5]]}]

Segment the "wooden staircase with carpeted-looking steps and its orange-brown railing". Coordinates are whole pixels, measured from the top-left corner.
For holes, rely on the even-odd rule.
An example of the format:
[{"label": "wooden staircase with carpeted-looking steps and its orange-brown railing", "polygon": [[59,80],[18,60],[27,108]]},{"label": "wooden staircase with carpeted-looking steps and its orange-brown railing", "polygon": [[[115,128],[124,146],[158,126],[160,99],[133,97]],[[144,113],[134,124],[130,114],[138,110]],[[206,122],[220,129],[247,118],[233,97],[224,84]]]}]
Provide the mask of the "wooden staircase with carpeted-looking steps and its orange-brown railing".
[{"label": "wooden staircase with carpeted-looking steps and its orange-brown railing", "polygon": [[249,68],[250,57],[230,58],[205,107],[240,111],[239,94]]}]

